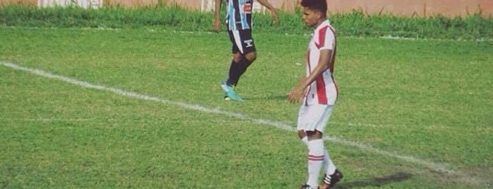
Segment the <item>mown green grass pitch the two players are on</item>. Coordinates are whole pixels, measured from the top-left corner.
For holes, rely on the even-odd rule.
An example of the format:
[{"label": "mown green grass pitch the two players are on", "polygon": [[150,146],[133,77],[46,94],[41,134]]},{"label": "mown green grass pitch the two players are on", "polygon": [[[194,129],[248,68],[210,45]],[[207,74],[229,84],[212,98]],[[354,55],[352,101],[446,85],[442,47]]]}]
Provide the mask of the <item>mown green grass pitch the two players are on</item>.
[{"label": "mown green grass pitch the two players are on", "polygon": [[[0,188],[297,188],[285,94],[308,36],[0,28]],[[493,42],[341,37],[326,146],[339,188],[491,188]]]}]

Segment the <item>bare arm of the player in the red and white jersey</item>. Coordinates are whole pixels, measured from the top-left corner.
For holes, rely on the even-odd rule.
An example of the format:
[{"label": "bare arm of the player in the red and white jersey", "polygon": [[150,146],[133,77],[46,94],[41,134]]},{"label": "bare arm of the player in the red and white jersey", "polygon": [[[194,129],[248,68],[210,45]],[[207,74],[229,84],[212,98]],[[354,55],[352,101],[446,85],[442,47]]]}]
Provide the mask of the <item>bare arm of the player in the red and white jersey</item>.
[{"label": "bare arm of the player in the red and white jersey", "polygon": [[317,79],[319,75],[322,75],[324,71],[329,68],[329,61],[331,60],[331,49],[324,49],[320,51],[320,59],[318,61],[317,67],[308,75],[308,77],[303,77],[296,84],[296,86],[288,93],[288,101],[291,103],[299,102],[303,94],[305,93],[306,87],[310,85],[313,81]]}]

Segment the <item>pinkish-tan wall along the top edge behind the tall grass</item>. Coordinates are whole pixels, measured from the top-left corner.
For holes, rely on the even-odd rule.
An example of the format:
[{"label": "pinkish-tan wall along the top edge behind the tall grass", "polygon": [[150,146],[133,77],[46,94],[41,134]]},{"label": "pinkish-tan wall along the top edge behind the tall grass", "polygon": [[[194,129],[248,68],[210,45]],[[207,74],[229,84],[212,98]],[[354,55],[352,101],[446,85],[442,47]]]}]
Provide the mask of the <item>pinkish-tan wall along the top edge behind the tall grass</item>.
[{"label": "pinkish-tan wall along the top edge behind the tall grass", "polygon": [[[42,0],[0,0],[1,4],[34,4]],[[68,0],[70,1],[70,0]],[[104,0],[104,4],[121,4],[122,6],[145,6],[167,4],[201,10],[211,8],[214,0]],[[276,8],[293,11],[299,0],[269,0]],[[329,12],[343,13],[358,9],[367,14],[388,13],[398,16],[468,16],[480,13],[493,16],[493,0],[327,0]]]}]

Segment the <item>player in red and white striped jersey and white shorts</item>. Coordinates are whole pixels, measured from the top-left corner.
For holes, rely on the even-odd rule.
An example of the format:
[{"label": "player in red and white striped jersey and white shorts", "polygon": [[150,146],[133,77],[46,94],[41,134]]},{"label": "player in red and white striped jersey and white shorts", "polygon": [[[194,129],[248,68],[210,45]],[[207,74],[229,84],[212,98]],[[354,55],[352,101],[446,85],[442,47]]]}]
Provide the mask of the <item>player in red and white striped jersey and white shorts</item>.
[{"label": "player in red and white striped jersey and white shorts", "polygon": [[[298,136],[308,146],[308,181],[301,188],[326,189],[343,177],[331,161],[322,139],[338,93],[333,75],[336,34],[327,20],[326,0],[302,0],[300,4],[305,25],[315,31],[308,44],[306,75],[288,92],[288,100],[291,103],[302,100],[297,128]],[[322,167],[325,176],[319,185]]]}]

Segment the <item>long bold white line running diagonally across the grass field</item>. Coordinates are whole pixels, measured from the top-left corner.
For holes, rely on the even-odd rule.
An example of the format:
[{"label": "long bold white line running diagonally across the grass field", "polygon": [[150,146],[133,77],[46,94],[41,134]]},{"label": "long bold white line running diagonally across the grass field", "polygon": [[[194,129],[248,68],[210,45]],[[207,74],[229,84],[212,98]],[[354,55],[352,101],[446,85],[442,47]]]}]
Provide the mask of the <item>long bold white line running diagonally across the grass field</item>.
[{"label": "long bold white line running diagonally across the grass field", "polygon": [[[16,63],[8,63],[8,62],[0,61],[0,65],[6,66],[8,68],[20,70],[20,71],[26,71],[28,73],[32,73],[35,75],[40,75],[44,78],[52,78],[52,79],[56,79],[56,80],[61,80],[63,82],[71,83],[73,85],[78,85],[78,86],[84,87],[84,88],[114,92],[114,93],[119,94],[121,96],[133,97],[135,99],[143,99],[143,100],[148,100],[148,101],[160,102],[163,104],[173,104],[175,106],[180,106],[180,107],[185,108],[185,109],[193,109],[193,110],[202,111],[202,112],[205,112],[208,114],[221,114],[224,116],[239,118],[239,119],[244,120],[244,121],[250,121],[252,123],[274,126],[276,128],[281,128],[283,130],[296,132],[296,128],[294,128],[293,126],[290,126],[286,123],[281,123],[279,121],[272,121],[272,120],[262,119],[262,118],[252,118],[252,117],[246,116],[244,114],[233,113],[233,112],[229,112],[229,111],[221,111],[219,109],[211,109],[211,108],[207,108],[205,106],[201,106],[199,104],[188,104],[185,102],[171,101],[171,100],[167,100],[167,99],[161,99],[159,97],[152,97],[152,96],[145,95],[145,94],[139,94],[136,92],[129,92],[129,91],[125,91],[125,90],[120,90],[120,89],[117,89],[114,87],[105,87],[102,85],[95,85],[95,84],[87,83],[85,81],[67,78],[67,77],[62,76],[62,75],[55,75],[53,73],[49,73],[47,71],[42,71],[42,70],[39,70],[37,68],[28,68],[28,67],[20,66]],[[447,173],[447,174],[455,175],[455,176],[462,176],[463,178],[465,177],[465,179],[468,181],[473,181],[473,183],[477,183],[477,181],[478,181],[478,178],[471,178],[470,176],[467,176],[466,174],[461,173],[460,171],[454,171],[453,169],[449,168],[450,166],[447,164],[438,164],[438,163],[434,163],[432,161],[426,161],[424,159],[419,159],[418,157],[413,157],[410,155],[404,155],[404,154],[398,154],[397,152],[387,152],[384,150],[379,150],[377,148],[372,147],[371,145],[366,145],[366,144],[363,144],[361,142],[355,142],[355,141],[346,140],[343,138],[338,138],[336,136],[326,136],[326,137],[324,137],[324,140],[327,140],[330,142],[336,142],[336,143],[339,143],[341,145],[346,145],[349,147],[355,147],[355,148],[358,148],[358,149],[363,150],[365,152],[372,152],[372,153],[381,154],[381,155],[387,156],[387,157],[393,157],[396,159],[401,159],[401,160],[406,161],[406,162],[419,164],[421,166],[427,167],[427,169],[430,169],[432,171],[436,171],[436,172],[440,172],[440,173]],[[482,181],[479,181],[479,182],[482,183]]]}]

